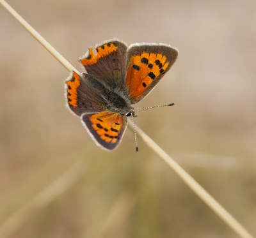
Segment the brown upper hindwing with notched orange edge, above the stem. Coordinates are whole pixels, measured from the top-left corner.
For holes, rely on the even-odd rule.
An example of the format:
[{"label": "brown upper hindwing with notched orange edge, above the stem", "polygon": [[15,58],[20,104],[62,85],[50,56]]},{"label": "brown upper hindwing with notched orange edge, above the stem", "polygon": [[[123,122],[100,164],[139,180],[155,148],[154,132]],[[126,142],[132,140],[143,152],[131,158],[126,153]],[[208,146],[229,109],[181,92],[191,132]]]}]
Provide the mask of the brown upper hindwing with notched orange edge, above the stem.
[{"label": "brown upper hindwing with notched orange edge, above the stem", "polygon": [[127,45],[114,39],[96,45],[96,50],[97,54],[93,54],[89,48],[80,59],[87,73],[112,89],[123,87]]}]

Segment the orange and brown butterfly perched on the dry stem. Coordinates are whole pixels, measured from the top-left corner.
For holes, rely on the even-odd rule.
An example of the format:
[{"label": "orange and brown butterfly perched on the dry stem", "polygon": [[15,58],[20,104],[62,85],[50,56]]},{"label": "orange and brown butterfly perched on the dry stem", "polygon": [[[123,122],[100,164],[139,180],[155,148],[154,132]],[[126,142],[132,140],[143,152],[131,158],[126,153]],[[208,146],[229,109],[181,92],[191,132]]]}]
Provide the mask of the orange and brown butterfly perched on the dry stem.
[{"label": "orange and brown butterfly perched on the dry stem", "polygon": [[[116,149],[141,101],[175,63],[178,50],[163,43],[126,43],[113,39],[96,45],[79,61],[87,73],[65,80],[67,106],[78,115],[95,143]],[[138,151],[138,147],[136,146]]]}]

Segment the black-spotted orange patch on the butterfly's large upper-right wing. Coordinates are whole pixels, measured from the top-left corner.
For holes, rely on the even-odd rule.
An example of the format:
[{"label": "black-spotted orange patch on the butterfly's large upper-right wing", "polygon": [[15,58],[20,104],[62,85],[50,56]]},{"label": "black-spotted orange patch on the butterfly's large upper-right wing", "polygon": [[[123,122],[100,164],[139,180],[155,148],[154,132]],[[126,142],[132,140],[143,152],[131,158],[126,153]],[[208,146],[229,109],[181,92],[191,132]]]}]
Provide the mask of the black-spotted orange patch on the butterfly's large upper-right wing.
[{"label": "black-spotted orange patch on the butterfly's large upper-right wing", "polygon": [[163,54],[144,52],[140,56],[132,56],[127,70],[125,87],[129,96],[140,95],[150,86],[153,80],[162,75],[169,63]]}]

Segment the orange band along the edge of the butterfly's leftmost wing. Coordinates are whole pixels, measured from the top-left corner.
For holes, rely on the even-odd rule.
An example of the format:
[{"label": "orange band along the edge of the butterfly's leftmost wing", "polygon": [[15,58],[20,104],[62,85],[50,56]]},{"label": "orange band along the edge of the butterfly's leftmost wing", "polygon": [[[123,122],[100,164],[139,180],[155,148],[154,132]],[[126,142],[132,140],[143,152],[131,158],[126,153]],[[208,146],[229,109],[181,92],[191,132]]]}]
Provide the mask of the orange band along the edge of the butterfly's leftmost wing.
[{"label": "orange band along the edge of the butterfly's leftmost wing", "polygon": [[73,72],[73,77],[66,81],[66,84],[68,86],[68,104],[72,105],[73,107],[77,107],[77,87],[80,86],[79,75],[77,75],[76,72]]}]

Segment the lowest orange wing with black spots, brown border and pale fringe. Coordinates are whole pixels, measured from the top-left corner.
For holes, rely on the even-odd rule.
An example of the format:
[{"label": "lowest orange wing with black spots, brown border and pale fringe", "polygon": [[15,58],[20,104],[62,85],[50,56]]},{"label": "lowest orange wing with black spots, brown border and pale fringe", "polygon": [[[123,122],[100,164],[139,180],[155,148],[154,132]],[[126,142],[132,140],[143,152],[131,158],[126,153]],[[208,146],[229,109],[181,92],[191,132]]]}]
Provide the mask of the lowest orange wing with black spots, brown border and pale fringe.
[{"label": "lowest orange wing with black spots, brown border and pale fringe", "polygon": [[83,114],[81,121],[95,143],[106,151],[116,149],[127,127],[127,117],[108,111]]}]

